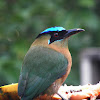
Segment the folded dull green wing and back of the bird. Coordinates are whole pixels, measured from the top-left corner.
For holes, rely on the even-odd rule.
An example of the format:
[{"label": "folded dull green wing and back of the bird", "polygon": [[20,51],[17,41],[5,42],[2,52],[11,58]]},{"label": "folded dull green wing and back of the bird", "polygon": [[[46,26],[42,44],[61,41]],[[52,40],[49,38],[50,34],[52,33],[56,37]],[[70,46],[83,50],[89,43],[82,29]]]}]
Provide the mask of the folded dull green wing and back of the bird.
[{"label": "folded dull green wing and back of the bird", "polygon": [[26,54],[19,78],[18,94],[22,100],[31,100],[65,74],[64,55],[41,46],[34,46]]}]

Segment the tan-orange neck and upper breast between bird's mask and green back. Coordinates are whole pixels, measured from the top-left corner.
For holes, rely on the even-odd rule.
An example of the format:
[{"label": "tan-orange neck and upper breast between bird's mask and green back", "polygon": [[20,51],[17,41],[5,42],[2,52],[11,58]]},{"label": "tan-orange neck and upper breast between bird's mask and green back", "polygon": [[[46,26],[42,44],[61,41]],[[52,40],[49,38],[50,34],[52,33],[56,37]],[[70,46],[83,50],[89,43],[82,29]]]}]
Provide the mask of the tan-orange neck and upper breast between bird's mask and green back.
[{"label": "tan-orange neck and upper breast between bird's mask and green back", "polygon": [[50,35],[44,35],[42,37],[39,37],[32,43],[31,47],[43,46],[43,47],[51,48],[57,52],[62,53],[69,60],[68,62],[72,62],[71,54],[68,49],[68,39],[64,39],[62,41],[56,41],[54,43],[48,44],[49,39],[50,39]]}]

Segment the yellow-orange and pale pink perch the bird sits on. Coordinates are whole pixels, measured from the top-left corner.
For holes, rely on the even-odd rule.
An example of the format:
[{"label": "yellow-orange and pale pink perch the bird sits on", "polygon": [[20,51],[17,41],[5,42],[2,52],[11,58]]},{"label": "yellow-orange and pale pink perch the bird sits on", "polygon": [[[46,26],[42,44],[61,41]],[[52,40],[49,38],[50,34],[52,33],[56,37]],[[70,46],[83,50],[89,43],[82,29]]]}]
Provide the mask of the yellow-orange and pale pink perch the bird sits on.
[{"label": "yellow-orange and pale pink perch the bird sits on", "polygon": [[[0,87],[0,100],[20,100],[18,96],[18,83],[5,85]],[[83,86],[61,86],[58,91],[64,98],[70,98],[70,100],[82,100],[88,99],[95,100],[100,99],[100,83],[96,85],[83,85]],[[45,100],[45,96],[40,96],[36,100]],[[48,99],[49,100],[49,99]],[[61,100],[61,98],[55,94],[51,100]]]}]

